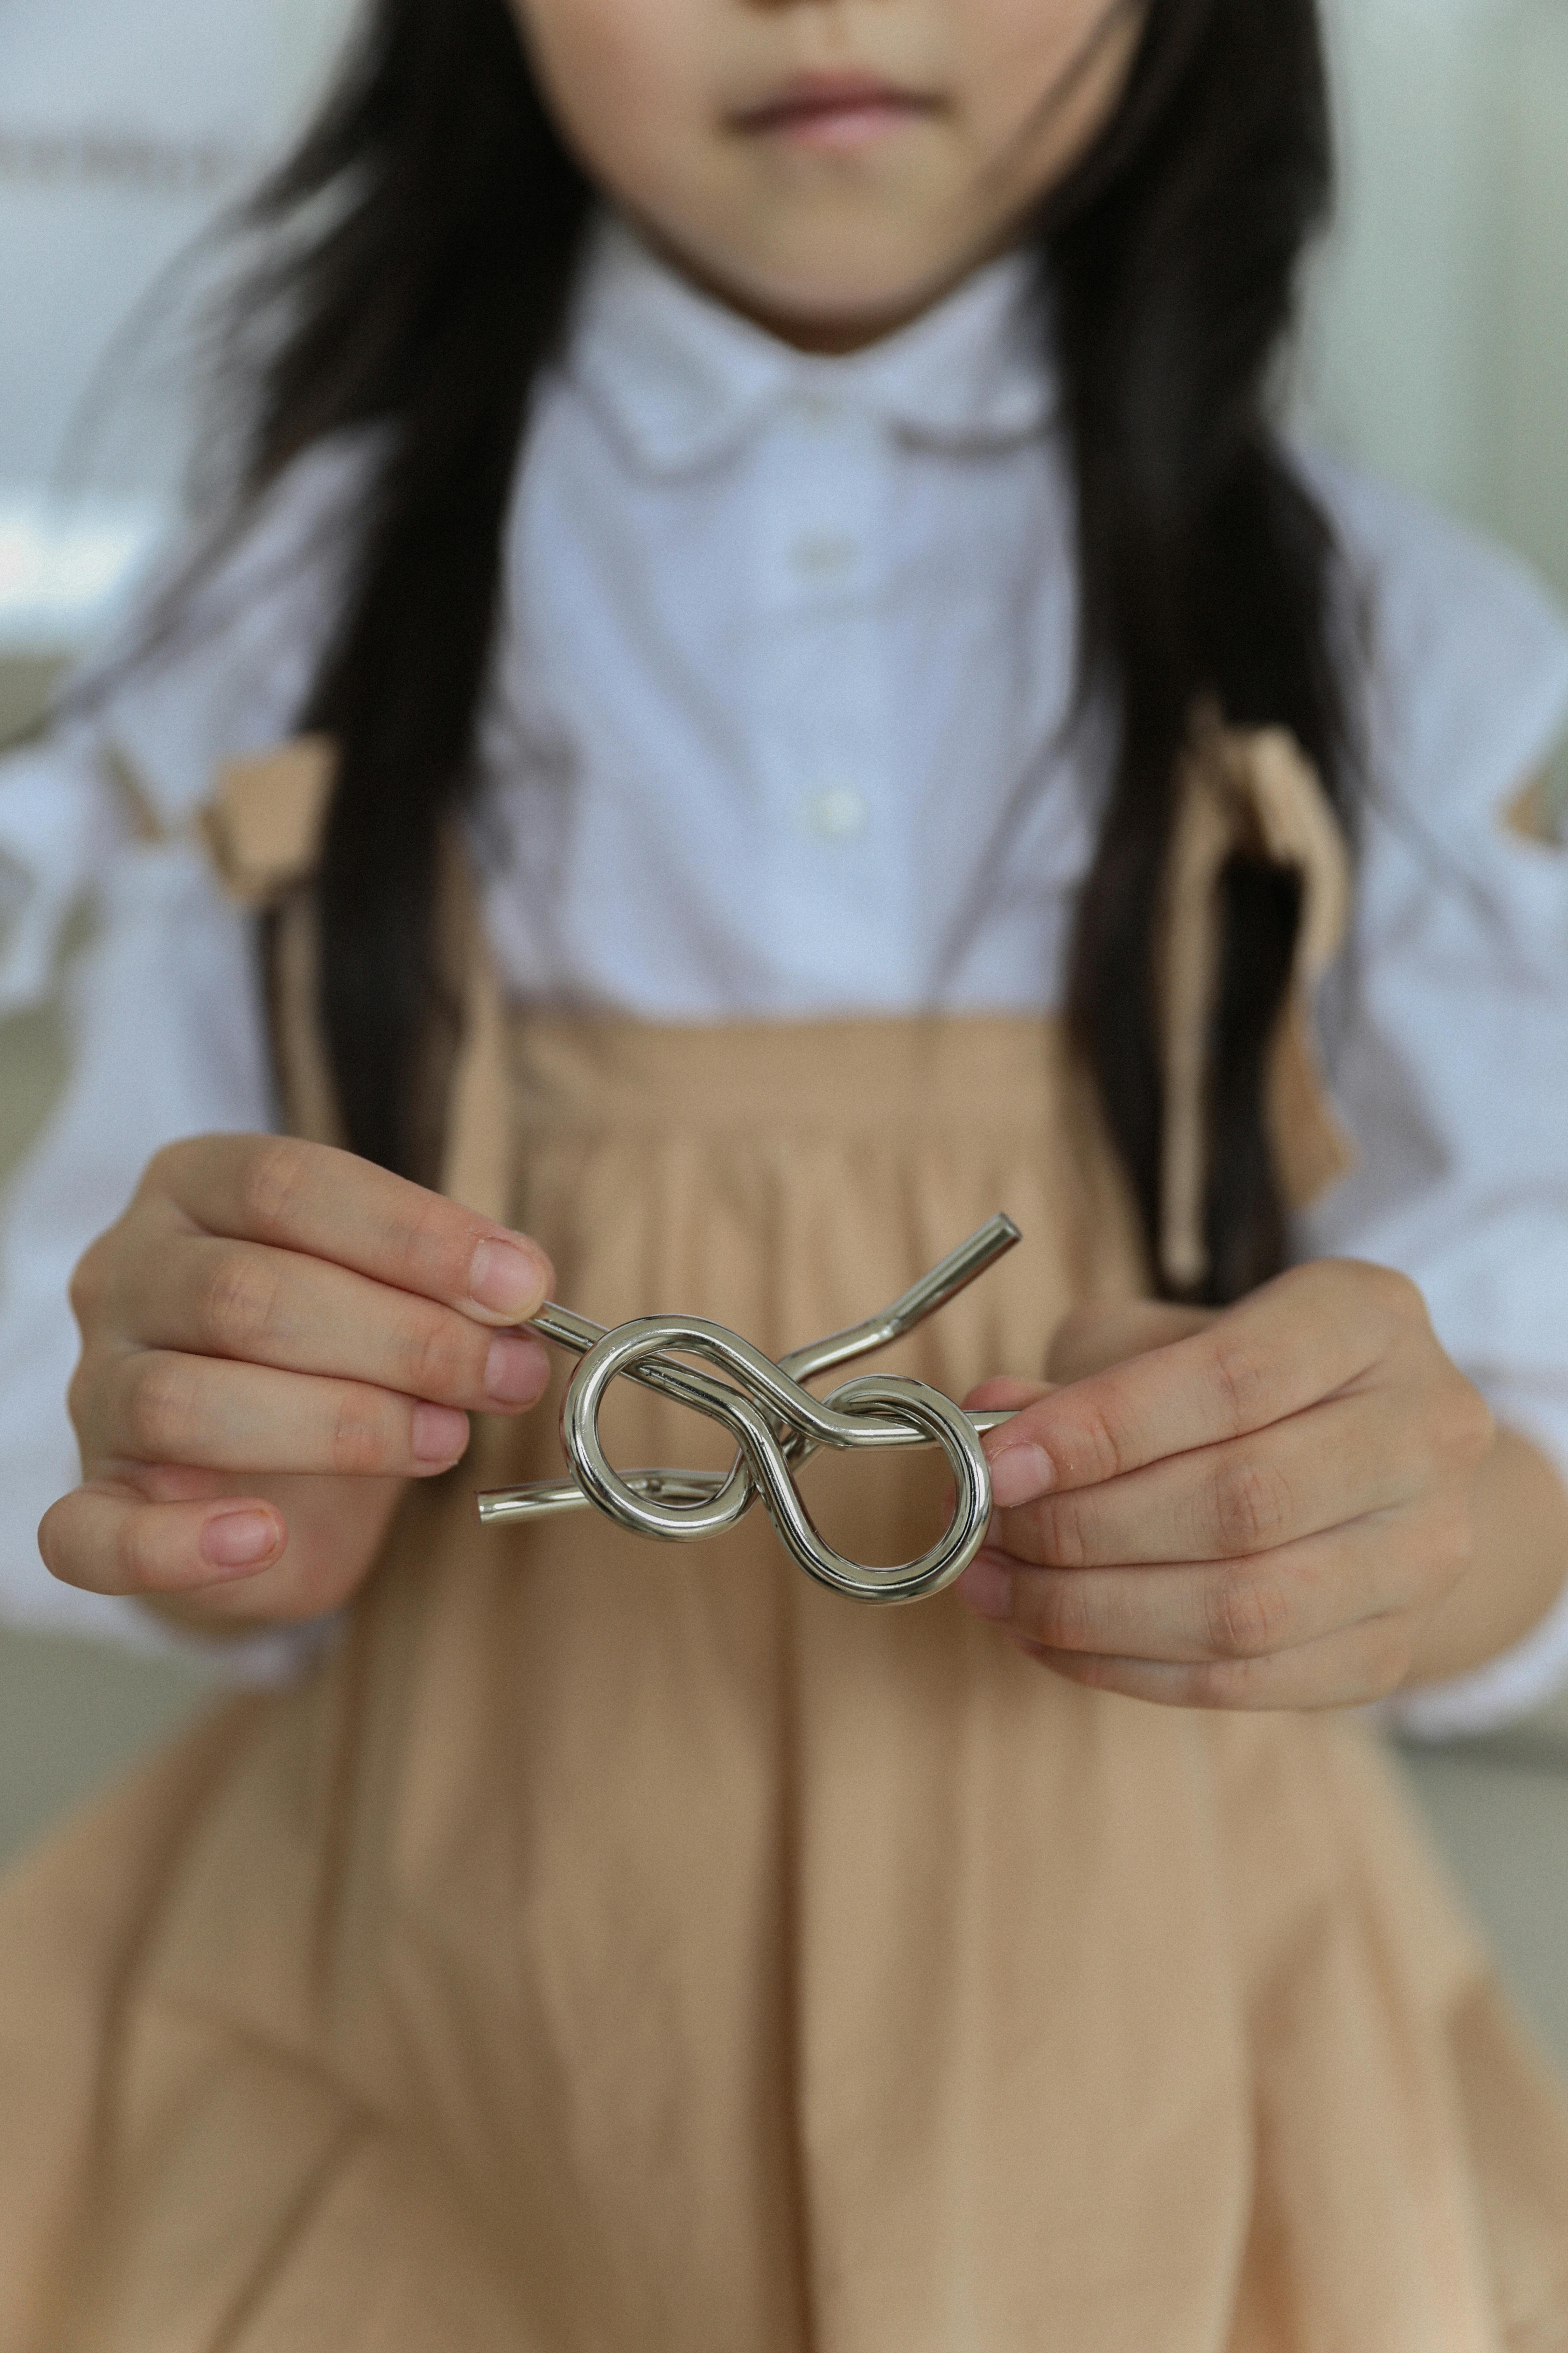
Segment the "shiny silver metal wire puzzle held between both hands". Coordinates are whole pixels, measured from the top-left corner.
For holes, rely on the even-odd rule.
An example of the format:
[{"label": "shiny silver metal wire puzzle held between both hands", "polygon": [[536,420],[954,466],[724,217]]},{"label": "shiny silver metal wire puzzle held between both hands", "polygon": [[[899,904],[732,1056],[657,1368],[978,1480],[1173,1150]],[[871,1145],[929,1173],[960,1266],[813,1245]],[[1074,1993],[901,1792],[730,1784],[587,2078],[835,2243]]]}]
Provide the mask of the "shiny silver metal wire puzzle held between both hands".
[{"label": "shiny silver metal wire puzzle held between both hands", "polygon": [[[980,1433],[1011,1417],[964,1414],[940,1391],[898,1377],[860,1377],[827,1398],[816,1398],[802,1384],[924,1322],[1018,1238],[1011,1219],[994,1217],[882,1315],[778,1362],[738,1332],[696,1315],[639,1315],[607,1332],[567,1308],[543,1308],[531,1329],[583,1358],[562,1405],[562,1445],[574,1478],[480,1497],[480,1520],[501,1525],[592,1504],[632,1534],[691,1544],[724,1534],[762,1501],[790,1558],[835,1593],[867,1602],[910,1602],[940,1593],[985,1541],[990,1468]],[[719,1377],[691,1365],[691,1358],[715,1365]],[[733,1468],[616,1471],[599,1440],[599,1409],[611,1381],[621,1377],[719,1421],[738,1447]],[[919,1560],[872,1569],[823,1541],[795,1485],[795,1468],[820,1447],[889,1445],[940,1445],[954,1478],[954,1508],[947,1532]]]}]

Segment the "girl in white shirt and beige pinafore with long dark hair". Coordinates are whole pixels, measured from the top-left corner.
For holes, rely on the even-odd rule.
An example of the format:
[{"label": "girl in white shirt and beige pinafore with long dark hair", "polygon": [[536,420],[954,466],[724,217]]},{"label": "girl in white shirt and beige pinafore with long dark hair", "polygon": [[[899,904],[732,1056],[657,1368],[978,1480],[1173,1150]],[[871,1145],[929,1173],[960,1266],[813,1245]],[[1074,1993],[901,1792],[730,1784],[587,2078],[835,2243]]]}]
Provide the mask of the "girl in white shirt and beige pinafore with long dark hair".
[{"label": "girl in white shirt and beige pinafore with long dark hair", "polygon": [[[1568,1649],[1568,640],[1269,431],[1324,186],[1309,0],[371,12],[240,518],[7,784],[106,896],[45,1562],[320,1652],[0,1897],[7,2346],[1568,2337],[1333,1715]],[[1020,1407],[969,1609],[477,1529],[548,1292],[783,1351],[999,1205],[903,1353]]]}]

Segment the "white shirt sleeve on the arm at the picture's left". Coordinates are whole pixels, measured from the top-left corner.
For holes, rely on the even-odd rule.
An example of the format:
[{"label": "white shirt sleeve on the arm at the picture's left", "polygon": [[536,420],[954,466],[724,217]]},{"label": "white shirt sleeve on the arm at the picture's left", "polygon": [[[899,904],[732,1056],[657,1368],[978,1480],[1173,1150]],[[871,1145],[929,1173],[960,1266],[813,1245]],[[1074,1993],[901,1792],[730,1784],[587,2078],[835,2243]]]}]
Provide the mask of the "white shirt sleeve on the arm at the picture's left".
[{"label": "white shirt sleeve on the arm at the picture's left", "polygon": [[223,899],[193,819],[223,758],[294,725],[329,593],[306,553],[343,485],[341,459],[315,464],[207,576],[172,645],[125,666],[110,652],[108,685],[89,678],[52,741],[0,762],[0,1014],[52,993],[66,918],[87,920],[63,976],[63,1092],[0,1200],[0,1617],[195,1649],[244,1682],[289,1673],[320,1635],[181,1635],[52,1579],[38,1520],[82,1475],[66,1414],[75,1261],[165,1144],[275,1125],[254,922]]}]

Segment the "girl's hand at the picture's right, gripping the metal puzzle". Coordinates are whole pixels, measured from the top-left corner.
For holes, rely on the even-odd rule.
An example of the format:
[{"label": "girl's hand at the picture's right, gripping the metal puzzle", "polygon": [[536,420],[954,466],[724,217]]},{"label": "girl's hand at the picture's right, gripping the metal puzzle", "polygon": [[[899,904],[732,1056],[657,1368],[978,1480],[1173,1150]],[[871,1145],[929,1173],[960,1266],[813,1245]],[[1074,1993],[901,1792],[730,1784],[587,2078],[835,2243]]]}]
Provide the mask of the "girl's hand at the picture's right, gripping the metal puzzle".
[{"label": "girl's hand at the picture's right, gripping the metal puzzle", "polygon": [[1098,1308],[1070,1386],[987,1438],[997,1515],[959,1593],[1060,1675],[1190,1708],[1335,1708],[1410,1673],[1472,1560],[1486,1402],[1415,1285],[1298,1266],[1218,1315]]}]

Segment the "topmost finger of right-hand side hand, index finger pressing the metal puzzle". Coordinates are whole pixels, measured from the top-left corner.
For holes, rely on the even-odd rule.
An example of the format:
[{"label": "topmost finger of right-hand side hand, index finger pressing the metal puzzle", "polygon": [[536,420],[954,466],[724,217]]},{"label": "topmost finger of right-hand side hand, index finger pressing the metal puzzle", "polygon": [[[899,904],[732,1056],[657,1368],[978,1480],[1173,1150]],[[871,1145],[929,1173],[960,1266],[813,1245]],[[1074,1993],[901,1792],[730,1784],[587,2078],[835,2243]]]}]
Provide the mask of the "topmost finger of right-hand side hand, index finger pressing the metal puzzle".
[{"label": "topmost finger of right-hand side hand, index finger pressing the metal puzzle", "polygon": [[[1032,1405],[987,1454],[1006,1504],[1088,1487],[1305,1412],[1363,1377],[1420,1294],[1385,1268],[1319,1261],[1267,1282],[1206,1332]],[[1006,1457],[1018,1464],[1004,1468]]]}]

